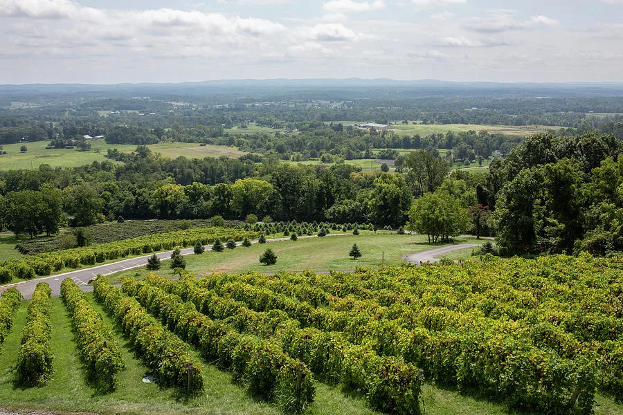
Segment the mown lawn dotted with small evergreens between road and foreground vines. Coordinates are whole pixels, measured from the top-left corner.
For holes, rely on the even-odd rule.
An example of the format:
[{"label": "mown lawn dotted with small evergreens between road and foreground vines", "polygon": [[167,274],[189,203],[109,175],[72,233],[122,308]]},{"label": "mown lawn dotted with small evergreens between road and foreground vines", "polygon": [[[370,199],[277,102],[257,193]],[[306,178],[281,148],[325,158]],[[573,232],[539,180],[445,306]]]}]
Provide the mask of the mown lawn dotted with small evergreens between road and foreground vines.
[{"label": "mown lawn dotted with small evergreens between road and foreground vines", "polygon": [[[457,238],[456,243],[471,243],[475,238]],[[353,260],[348,256],[353,243],[356,243],[363,255]],[[356,267],[378,268],[384,257],[384,264],[403,264],[402,255],[443,246],[429,244],[426,235],[399,235],[395,233],[329,236],[324,238],[298,239],[298,241],[269,242],[265,245],[255,243],[249,248],[239,246],[223,252],[206,251],[202,255],[187,255],[186,270],[195,275],[207,275],[213,272],[240,273],[259,271],[277,273],[281,270],[353,270]],[[264,266],[259,258],[262,252],[271,248],[277,255],[277,264]],[[163,262],[160,275],[171,277],[172,270]],[[135,268],[109,276],[111,282],[118,282],[121,277],[144,277],[145,268]]]}]

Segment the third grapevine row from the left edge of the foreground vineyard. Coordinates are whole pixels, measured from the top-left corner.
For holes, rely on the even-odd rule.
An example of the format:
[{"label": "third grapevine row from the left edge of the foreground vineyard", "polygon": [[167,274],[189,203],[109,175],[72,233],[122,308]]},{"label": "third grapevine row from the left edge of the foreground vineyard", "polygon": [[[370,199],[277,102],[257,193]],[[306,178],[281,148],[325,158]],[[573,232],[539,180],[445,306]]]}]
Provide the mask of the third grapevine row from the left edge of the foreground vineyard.
[{"label": "third grapevine row from the left edge of the foreground vineyard", "polygon": [[114,389],[125,363],[111,330],[71,278],[62,282],[61,295],[72,317],[80,357],[100,385]]}]

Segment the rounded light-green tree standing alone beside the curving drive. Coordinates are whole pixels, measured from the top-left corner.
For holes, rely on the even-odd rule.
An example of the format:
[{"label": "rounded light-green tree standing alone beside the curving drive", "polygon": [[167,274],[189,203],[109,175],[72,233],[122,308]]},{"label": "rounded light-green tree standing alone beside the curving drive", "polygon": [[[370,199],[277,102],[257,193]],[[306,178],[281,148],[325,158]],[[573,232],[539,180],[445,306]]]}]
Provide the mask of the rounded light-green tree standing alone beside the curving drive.
[{"label": "rounded light-green tree standing alone beside the curving drive", "polygon": [[467,209],[447,192],[424,194],[409,210],[406,228],[428,235],[428,242],[448,241],[463,232],[469,223]]}]

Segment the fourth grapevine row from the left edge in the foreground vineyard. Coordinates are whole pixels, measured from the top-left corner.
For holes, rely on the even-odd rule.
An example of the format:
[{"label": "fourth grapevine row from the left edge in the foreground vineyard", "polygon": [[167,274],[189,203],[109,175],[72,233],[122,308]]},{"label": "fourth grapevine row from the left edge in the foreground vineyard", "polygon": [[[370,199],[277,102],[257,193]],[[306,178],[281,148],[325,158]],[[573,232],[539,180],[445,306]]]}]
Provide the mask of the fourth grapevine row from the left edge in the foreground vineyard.
[{"label": "fourth grapevine row from the left edge in the foreground vineyard", "polygon": [[161,385],[179,387],[189,394],[203,389],[201,366],[190,356],[188,344],[151,317],[136,299],[124,295],[104,277],[98,277],[93,286],[98,302],[114,315],[132,341],[137,356],[153,371]]}]

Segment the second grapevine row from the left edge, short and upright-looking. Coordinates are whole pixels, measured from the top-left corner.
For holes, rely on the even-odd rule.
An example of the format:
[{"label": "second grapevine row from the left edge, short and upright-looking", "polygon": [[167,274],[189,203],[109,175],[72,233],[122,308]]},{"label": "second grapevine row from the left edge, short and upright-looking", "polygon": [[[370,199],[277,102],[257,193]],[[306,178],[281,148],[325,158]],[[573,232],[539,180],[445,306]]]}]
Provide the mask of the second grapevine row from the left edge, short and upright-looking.
[{"label": "second grapevine row from the left edge, short and upright-looking", "polygon": [[21,346],[17,353],[17,382],[24,386],[44,385],[53,374],[52,290],[39,282],[28,305],[26,325],[21,332]]}]

